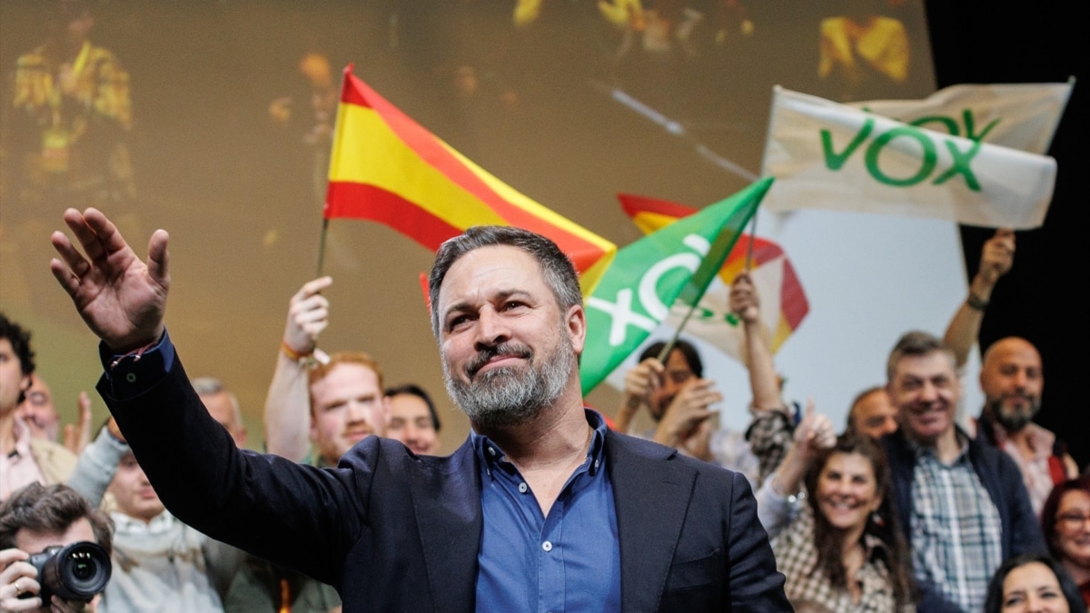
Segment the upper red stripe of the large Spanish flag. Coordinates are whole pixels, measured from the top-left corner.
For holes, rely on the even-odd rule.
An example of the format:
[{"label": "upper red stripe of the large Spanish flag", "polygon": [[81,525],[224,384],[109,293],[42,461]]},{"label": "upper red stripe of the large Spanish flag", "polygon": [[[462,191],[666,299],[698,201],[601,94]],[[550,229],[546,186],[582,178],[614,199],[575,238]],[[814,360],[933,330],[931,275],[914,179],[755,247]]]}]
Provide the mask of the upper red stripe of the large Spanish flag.
[{"label": "upper red stripe of the large Spanish flag", "polygon": [[[480,199],[508,224],[549,237],[557,243],[561,251],[569,254],[573,260],[576,254],[597,253],[601,256],[602,250],[596,244],[543,220],[541,217],[511,204],[494,192],[473,170],[451,155],[434,134],[401,112],[400,109],[378,95],[355,75],[346,72],[346,76],[344,94],[341,96],[342,101],[359,104],[374,109],[390,129],[393,130],[393,133],[412,151],[416,152],[416,155],[425,164],[433,166],[455,184]],[[350,88],[355,91],[351,94],[353,96],[352,100],[348,99],[348,91]],[[354,96],[359,96],[362,101],[354,101]],[[596,260],[597,257],[594,259],[594,261]]]}]

